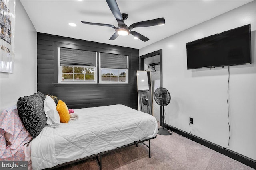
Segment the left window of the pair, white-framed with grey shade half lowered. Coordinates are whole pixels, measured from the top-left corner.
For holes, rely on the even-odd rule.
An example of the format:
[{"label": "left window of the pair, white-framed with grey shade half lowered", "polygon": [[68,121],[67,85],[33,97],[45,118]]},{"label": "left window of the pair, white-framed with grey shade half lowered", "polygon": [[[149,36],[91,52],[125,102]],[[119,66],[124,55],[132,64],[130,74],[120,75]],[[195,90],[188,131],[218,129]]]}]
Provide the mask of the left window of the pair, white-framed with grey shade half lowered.
[{"label": "left window of the pair, white-framed with grey shade half lowered", "polygon": [[97,83],[97,53],[59,48],[59,83]]}]

